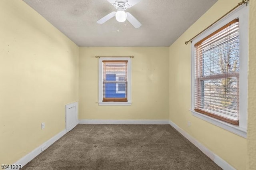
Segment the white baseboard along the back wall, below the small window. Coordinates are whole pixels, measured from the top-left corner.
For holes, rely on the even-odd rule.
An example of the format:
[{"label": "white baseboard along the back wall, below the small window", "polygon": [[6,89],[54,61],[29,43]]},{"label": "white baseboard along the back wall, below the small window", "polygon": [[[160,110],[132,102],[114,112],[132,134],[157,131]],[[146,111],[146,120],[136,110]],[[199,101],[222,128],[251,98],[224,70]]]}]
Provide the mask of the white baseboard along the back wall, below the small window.
[{"label": "white baseboard along the back wall, below the small window", "polygon": [[144,125],[169,125],[169,120],[97,120],[82,119],[79,124],[144,124]]}]

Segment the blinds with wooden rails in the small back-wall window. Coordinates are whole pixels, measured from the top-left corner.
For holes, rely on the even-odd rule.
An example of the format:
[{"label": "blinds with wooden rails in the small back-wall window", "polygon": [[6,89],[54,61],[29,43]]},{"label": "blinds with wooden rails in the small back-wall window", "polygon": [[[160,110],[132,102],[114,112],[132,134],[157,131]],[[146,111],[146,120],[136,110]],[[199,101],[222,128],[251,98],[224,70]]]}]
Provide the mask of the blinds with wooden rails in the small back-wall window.
[{"label": "blinds with wooden rails in the small back-wall window", "polygon": [[103,102],[127,102],[126,60],[102,61]]}]

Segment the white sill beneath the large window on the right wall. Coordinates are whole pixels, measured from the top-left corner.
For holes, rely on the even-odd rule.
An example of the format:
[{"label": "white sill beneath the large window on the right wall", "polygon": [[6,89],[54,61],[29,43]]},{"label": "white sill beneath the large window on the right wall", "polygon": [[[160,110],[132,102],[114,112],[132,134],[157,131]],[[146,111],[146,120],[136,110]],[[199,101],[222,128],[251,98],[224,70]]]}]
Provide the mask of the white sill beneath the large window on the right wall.
[{"label": "white sill beneath the large window on the right wall", "polygon": [[243,138],[247,138],[247,130],[245,128],[242,128],[242,127],[239,127],[239,126],[236,126],[236,125],[232,125],[232,124],[220,121],[218,119],[214,119],[213,117],[198,113],[196,111],[192,111],[192,110],[190,110],[190,111],[191,111],[192,115],[195,116],[195,117],[198,117],[198,118],[200,118],[204,121],[207,121],[207,122],[209,122],[213,125],[216,125],[220,128],[228,130],[228,131],[230,131],[234,134],[242,136]]}]

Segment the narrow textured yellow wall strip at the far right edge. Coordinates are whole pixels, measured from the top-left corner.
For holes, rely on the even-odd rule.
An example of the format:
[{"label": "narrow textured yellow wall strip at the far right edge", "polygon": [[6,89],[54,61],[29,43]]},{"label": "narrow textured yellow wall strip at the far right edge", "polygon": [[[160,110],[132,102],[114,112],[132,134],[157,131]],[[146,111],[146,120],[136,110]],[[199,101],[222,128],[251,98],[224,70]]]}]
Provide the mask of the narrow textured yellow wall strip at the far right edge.
[{"label": "narrow textured yellow wall strip at the far right edge", "polygon": [[256,1],[250,1],[248,75],[248,166],[256,169]]}]

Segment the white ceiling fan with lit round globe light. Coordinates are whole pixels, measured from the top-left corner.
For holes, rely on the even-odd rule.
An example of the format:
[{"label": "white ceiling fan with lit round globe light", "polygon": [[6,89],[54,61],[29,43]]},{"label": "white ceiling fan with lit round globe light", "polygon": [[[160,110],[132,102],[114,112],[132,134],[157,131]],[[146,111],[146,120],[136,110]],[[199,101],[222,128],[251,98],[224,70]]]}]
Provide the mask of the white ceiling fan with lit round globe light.
[{"label": "white ceiling fan with lit round globe light", "polygon": [[116,16],[116,20],[118,22],[125,22],[126,19],[135,27],[139,28],[141,26],[140,22],[130,12],[125,12],[127,8],[130,8],[140,2],[141,0],[108,0],[110,4],[116,7],[117,12],[110,12],[108,15],[104,16],[100,20],[97,21],[98,24],[103,24],[106,21],[110,20],[114,16]]}]

